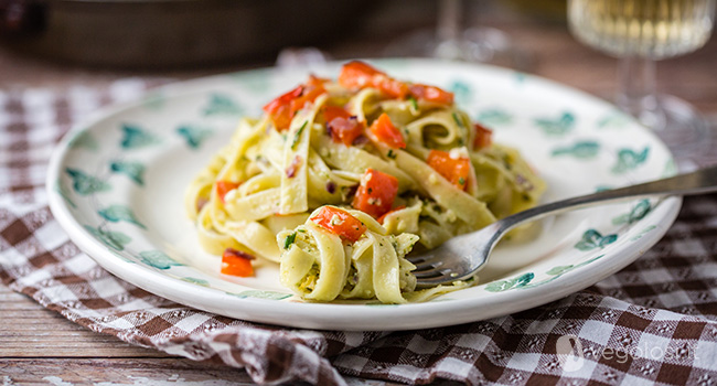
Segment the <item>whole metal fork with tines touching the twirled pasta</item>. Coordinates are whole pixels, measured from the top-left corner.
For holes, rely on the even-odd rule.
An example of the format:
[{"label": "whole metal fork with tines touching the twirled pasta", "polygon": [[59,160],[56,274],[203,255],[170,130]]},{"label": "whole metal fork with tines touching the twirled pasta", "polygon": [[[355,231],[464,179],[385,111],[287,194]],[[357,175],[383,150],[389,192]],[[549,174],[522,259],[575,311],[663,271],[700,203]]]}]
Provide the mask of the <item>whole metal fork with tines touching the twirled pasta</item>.
[{"label": "whole metal fork with tines touching the twirled pasta", "polygon": [[453,237],[435,249],[409,257],[408,260],[416,265],[413,274],[417,278],[417,288],[465,280],[474,276],[488,262],[493,247],[506,232],[527,221],[630,197],[693,195],[710,192],[717,192],[717,167],[536,206],[499,219],[478,232]]}]

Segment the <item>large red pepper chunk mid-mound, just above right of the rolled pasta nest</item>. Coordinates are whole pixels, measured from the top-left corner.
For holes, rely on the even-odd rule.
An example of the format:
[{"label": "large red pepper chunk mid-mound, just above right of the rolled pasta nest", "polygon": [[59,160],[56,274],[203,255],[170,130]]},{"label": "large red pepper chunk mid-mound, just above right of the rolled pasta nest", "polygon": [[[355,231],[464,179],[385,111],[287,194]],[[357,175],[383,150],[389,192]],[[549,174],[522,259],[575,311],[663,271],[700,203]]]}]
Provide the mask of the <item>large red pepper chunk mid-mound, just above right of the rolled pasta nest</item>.
[{"label": "large red pepper chunk mid-mound, just above right of the rolled pasta nest", "polygon": [[398,194],[398,179],[390,174],[368,169],[361,179],[361,185],[351,204],[358,211],[378,218],[390,211]]}]

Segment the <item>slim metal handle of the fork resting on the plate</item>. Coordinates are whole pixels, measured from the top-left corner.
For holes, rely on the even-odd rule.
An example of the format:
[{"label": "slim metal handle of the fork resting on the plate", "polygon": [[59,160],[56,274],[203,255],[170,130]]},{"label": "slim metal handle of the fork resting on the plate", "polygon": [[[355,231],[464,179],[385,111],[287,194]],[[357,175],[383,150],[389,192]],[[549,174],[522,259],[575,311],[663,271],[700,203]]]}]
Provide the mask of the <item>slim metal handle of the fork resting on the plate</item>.
[{"label": "slim metal handle of the fork resting on the plate", "polygon": [[649,195],[692,195],[710,192],[717,192],[717,167],[705,168],[692,173],[678,174],[667,179],[580,195],[535,206],[503,218],[501,221],[501,228],[507,230],[527,219],[538,219],[569,210],[588,207],[598,203],[619,201],[629,197]]}]

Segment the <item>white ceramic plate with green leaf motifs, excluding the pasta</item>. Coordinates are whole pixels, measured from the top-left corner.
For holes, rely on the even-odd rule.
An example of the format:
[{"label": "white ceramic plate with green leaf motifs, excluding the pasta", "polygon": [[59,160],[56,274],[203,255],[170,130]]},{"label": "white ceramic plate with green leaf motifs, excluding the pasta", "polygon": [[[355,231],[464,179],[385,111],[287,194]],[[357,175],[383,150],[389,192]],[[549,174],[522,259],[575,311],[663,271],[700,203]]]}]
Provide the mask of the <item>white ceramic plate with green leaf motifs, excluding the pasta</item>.
[{"label": "white ceramic plate with green leaf motifs, excluding the pasta", "polygon": [[[529,75],[473,64],[375,63],[392,75],[442,86],[495,140],[521,149],[549,184],[546,201],[657,179],[675,171],[665,147],[612,105]],[[654,245],[676,197],[633,201],[555,217],[524,245],[504,245],[480,285],[425,303],[307,303],[259,262],[255,278],[218,274],[183,211],[184,187],[226,142],[238,118],[322,68],[260,69],[161,88],[75,128],[53,154],[52,212],[73,242],[118,277],[197,309],[287,326],[408,330],[525,310],[586,288]]]}]

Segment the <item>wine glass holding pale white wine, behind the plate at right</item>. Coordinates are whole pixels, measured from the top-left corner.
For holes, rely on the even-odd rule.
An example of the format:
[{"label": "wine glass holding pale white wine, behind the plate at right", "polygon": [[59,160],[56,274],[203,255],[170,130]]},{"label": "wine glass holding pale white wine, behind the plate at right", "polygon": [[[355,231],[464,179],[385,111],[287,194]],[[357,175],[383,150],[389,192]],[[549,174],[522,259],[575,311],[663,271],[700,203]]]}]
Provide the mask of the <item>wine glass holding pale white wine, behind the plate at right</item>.
[{"label": "wine glass holding pale white wine, behind the plate at right", "polygon": [[711,33],[716,0],[568,0],[570,32],[619,58],[616,103],[651,128],[678,167],[694,168],[711,141],[709,125],[688,103],[657,95],[655,61],[700,49]]}]

